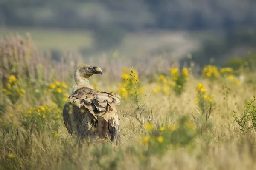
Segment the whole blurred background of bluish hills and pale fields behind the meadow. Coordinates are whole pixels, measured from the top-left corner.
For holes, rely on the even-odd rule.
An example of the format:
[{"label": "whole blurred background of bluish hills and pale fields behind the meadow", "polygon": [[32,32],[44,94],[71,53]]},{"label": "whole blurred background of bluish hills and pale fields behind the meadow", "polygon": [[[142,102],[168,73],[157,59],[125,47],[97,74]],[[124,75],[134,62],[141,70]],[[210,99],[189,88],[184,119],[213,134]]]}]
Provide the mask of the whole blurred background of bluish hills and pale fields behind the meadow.
[{"label": "whole blurred background of bluish hills and pale fields behind the meadow", "polygon": [[[256,0],[0,0],[0,34],[31,34],[38,51],[89,57],[254,60]],[[238,67],[238,66],[237,66]]]}]

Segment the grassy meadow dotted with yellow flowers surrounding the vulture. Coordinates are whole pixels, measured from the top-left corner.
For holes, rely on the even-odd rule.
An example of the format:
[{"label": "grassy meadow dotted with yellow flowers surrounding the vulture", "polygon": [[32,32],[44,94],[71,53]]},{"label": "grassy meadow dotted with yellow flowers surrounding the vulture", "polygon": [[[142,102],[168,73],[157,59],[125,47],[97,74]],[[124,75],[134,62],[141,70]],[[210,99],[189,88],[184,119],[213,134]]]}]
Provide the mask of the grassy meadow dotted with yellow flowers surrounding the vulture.
[{"label": "grassy meadow dotted with yellow flowers surrounding the vulture", "polygon": [[89,58],[90,82],[121,97],[121,142],[81,141],[62,109],[79,56],[42,56],[31,37],[0,41],[0,170],[256,168],[255,72],[163,58]]}]

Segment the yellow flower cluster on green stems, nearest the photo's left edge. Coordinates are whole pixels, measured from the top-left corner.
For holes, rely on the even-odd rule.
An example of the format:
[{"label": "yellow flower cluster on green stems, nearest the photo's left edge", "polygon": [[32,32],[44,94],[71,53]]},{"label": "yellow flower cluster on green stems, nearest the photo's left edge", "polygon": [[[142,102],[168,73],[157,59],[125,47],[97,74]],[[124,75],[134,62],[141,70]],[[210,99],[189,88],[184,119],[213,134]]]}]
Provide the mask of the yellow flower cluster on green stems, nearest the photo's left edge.
[{"label": "yellow flower cluster on green stems, nearest the photo's left edge", "polygon": [[17,99],[26,93],[25,89],[20,89],[17,84],[17,79],[15,75],[10,75],[8,78],[8,82],[6,83],[6,88],[3,88],[3,93],[5,93],[9,99],[14,103]]}]

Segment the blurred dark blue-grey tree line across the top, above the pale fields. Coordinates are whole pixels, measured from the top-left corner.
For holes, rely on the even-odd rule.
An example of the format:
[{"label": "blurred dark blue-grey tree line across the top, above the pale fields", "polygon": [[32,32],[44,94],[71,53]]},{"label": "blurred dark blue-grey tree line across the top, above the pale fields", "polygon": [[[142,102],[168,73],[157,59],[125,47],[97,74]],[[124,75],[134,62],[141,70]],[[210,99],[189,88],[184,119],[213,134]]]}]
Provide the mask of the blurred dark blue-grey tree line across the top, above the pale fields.
[{"label": "blurred dark blue-grey tree line across the top, above the pale fields", "polygon": [[256,26],[255,0],[0,0],[1,26],[205,29]]}]

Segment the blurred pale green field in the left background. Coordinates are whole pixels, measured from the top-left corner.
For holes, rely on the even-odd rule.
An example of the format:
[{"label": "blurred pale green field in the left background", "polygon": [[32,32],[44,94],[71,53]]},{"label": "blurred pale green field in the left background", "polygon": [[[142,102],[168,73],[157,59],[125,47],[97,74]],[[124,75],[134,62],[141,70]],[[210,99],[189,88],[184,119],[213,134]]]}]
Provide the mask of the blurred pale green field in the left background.
[{"label": "blurred pale green field in the left background", "polygon": [[89,31],[63,30],[49,28],[0,28],[0,35],[6,36],[10,32],[25,36],[31,34],[39,50],[57,49],[61,51],[91,47],[93,44]]}]

